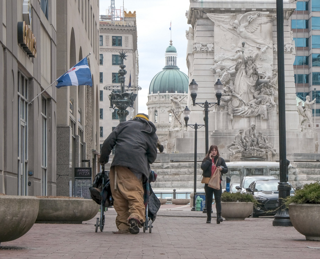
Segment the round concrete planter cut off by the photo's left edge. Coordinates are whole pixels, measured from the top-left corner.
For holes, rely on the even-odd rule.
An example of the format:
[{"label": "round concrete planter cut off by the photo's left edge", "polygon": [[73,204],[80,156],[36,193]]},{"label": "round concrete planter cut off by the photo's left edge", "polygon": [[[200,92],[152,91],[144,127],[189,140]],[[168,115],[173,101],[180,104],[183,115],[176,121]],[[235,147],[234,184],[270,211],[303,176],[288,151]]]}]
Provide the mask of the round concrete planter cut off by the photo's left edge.
[{"label": "round concrete planter cut off by the photo's left edge", "polygon": [[27,233],[36,221],[38,209],[36,197],[0,195],[0,243]]}]

